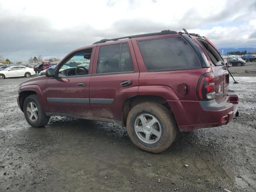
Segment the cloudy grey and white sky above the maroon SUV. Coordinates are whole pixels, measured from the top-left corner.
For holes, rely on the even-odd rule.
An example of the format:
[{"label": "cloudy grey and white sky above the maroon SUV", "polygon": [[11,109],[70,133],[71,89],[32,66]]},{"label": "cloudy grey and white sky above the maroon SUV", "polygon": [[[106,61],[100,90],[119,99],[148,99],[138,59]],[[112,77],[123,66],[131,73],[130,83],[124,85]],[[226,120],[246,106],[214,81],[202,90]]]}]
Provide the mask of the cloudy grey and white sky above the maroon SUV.
[{"label": "cloudy grey and white sky above the maroon SUV", "polygon": [[256,0],[0,0],[0,55],[11,61],[182,28],[218,48],[256,48]]}]

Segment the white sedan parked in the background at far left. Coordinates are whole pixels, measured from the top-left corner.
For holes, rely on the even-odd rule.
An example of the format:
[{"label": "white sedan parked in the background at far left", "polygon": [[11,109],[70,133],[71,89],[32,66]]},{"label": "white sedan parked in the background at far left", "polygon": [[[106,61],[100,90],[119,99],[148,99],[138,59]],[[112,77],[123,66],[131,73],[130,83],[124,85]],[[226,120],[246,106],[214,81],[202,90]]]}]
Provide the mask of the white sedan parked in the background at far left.
[{"label": "white sedan parked in the background at far left", "polygon": [[30,77],[36,74],[33,68],[28,68],[25,66],[10,66],[0,71],[0,79],[8,77]]}]

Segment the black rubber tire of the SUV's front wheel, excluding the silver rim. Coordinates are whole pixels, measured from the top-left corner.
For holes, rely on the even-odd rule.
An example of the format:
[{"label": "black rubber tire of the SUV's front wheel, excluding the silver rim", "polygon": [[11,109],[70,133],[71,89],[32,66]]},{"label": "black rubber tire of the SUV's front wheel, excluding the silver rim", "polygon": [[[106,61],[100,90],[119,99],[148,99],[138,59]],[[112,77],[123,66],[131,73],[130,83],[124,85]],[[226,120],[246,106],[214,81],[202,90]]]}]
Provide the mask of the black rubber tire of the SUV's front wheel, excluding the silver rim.
[{"label": "black rubber tire of the SUV's front wheel, excluding the silver rim", "polygon": [[[28,104],[29,103],[34,103],[34,105],[37,107],[37,116],[38,118],[34,121],[30,120],[29,117],[29,113],[27,111],[28,108]],[[32,127],[43,127],[44,125],[46,125],[50,119],[49,116],[46,116],[45,112],[42,110],[41,105],[39,103],[38,97],[37,95],[29,95],[23,104],[23,112],[24,112],[24,116],[28,122],[28,124],[30,124]]]}]

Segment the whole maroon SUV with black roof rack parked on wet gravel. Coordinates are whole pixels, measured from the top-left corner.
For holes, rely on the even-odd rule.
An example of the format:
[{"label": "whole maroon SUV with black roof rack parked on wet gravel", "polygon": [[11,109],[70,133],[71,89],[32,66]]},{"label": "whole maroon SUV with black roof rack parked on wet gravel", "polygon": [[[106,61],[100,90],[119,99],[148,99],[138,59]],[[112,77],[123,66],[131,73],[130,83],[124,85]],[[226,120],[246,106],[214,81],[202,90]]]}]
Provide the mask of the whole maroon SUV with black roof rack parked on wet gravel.
[{"label": "whole maroon SUV with black roof rack parked on wet gravel", "polygon": [[[70,68],[63,69],[62,66]],[[18,105],[33,127],[50,116],[126,126],[143,150],[166,150],[176,131],[228,124],[238,96],[205,37],[162,32],[103,39],[70,52],[46,76],[20,84]]]}]

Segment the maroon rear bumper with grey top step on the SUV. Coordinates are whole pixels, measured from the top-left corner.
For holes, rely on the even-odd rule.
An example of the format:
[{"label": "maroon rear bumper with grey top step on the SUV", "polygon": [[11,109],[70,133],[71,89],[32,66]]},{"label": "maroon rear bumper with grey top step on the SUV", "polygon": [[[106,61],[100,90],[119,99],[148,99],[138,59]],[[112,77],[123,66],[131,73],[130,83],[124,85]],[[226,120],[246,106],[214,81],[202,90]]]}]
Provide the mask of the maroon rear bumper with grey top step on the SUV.
[{"label": "maroon rear bumper with grey top step on the SUV", "polygon": [[238,111],[238,96],[228,91],[226,102],[168,101],[181,132],[228,124]]}]

